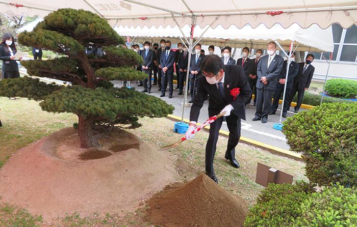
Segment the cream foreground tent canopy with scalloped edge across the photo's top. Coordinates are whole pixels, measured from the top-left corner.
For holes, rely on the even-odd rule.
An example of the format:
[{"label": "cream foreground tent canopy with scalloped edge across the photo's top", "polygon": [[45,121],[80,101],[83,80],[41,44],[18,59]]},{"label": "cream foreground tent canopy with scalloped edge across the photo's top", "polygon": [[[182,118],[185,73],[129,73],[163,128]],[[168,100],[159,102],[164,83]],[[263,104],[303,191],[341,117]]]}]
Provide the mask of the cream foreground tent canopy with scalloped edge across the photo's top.
[{"label": "cream foreground tent canopy with scalloped edge across the photo's top", "polygon": [[13,0],[0,1],[0,6],[2,13],[11,11],[41,17],[59,8],[84,9],[103,16],[113,26],[174,26],[176,23],[172,15],[183,26],[191,24],[192,14],[200,27],[213,21],[212,27],[222,25],[224,28],[232,24],[239,28],[246,24],[257,27],[261,23],[267,27],[278,23],[287,28],[297,23],[303,28],[318,24],[325,29],[333,23],[339,23],[344,28],[357,24],[356,0]]}]

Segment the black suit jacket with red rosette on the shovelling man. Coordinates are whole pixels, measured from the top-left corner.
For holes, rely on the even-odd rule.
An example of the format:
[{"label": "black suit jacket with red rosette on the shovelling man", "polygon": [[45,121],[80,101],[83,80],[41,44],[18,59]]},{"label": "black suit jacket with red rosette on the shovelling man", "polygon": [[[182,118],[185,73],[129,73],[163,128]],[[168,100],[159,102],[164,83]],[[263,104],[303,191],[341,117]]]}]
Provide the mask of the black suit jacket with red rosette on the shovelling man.
[{"label": "black suit jacket with red rosette on the shovelling man", "polygon": [[[197,94],[193,100],[190,112],[190,121],[197,122],[199,111],[203,106],[205,97],[209,95],[208,113],[209,116],[217,115],[224,106],[231,104],[233,110],[231,114],[245,120],[245,102],[251,96],[251,90],[244,70],[241,66],[226,65],[224,67],[224,91],[225,101],[222,99],[217,84],[209,84],[205,76],[198,77]],[[230,95],[232,89],[239,88],[240,94],[233,100]]]}]

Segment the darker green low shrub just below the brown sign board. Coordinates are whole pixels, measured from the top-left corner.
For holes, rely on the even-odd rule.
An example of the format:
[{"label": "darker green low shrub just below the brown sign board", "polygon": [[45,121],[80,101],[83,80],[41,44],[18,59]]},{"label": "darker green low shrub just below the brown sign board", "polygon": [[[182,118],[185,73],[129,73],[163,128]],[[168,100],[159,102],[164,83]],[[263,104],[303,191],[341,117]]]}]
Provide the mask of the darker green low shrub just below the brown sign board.
[{"label": "darker green low shrub just below the brown sign board", "polygon": [[269,184],[250,209],[244,226],[292,226],[301,216],[300,205],[313,191],[307,183]]}]

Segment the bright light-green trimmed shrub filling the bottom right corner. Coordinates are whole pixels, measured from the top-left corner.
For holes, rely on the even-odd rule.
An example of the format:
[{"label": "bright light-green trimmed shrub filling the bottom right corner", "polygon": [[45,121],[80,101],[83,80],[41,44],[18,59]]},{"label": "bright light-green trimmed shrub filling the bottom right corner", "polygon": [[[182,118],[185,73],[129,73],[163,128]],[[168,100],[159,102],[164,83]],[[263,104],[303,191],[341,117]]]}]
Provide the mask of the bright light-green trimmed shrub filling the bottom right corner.
[{"label": "bright light-green trimmed shrub filling the bottom right corner", "polygon": [[314,192],[301,203],[295,226],[357,226],[357,190],[341,185]]}]

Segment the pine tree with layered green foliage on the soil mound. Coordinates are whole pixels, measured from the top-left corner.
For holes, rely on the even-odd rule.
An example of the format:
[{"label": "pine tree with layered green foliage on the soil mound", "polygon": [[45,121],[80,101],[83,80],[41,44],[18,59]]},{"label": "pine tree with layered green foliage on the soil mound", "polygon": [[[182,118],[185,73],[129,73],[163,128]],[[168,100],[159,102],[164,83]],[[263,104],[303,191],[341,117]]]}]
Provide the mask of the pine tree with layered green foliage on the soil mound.
[{"label": "pine tree with layered green foliage on the soil mound", "polygon": [[[95,125],[140,126],[139,117],[164,117],[173,107],[159,98],[133,89],[114,88],[110,80],[142,80],[135,69],[142,58],[123,47],[124,40],[100,16],[85,10],[59,9],[48,14],[32,32],[18,35],[22,45],[52,50],[66,56],[54,60],[21,61],[29,75],[68,81],[68,87],[36,79],[0,81],[0,95],[42,100],[42,110],[72,112],[78,116],[82,148],[98,146]],[[101,56],[86,54],[86,48],[101,48]]]}]

